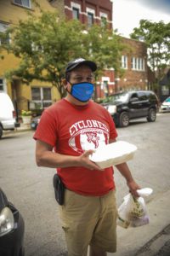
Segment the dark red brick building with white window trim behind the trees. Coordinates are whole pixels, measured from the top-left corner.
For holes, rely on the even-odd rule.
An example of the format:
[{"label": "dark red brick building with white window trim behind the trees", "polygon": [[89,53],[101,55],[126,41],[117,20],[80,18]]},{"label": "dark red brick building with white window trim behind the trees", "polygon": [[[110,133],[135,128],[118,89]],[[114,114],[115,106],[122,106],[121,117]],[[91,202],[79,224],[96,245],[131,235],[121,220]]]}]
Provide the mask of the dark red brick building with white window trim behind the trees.
[{"label": "dark red brick building with white window trim behind the trees", "polygon": [[[110,0],[65,0],[65,16],[80,20],[87,26],[98,24],[112,29],[112,3]],[[103,98],[115,92],[114,70],[105,70],[104,76],[96,82],[96,98]]]}]

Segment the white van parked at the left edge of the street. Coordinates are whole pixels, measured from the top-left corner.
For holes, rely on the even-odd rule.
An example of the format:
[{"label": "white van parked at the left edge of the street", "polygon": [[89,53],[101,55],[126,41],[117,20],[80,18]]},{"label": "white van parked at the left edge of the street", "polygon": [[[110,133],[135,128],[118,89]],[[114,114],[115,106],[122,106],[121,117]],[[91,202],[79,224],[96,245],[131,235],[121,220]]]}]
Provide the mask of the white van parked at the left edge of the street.
[{"label": "white van parked at the left edge of the street", "polygon": [[16,122],[16,113],[10,97],[5,92],[0,92],[0,138],[3,131],[14,130],[20,124]]}]

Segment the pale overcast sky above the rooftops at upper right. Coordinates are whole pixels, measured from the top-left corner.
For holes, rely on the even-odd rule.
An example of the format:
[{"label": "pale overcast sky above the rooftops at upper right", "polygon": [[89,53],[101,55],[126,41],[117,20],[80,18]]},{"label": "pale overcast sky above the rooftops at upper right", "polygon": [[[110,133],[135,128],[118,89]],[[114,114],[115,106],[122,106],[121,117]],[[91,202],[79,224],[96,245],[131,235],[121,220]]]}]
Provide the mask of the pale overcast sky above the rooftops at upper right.
[{"label": "pale overcast sky above the rooftops at upper right", "polygon": [[170,22],[170,0],[113,0],[113,27],[129,37],[139,20]]}]

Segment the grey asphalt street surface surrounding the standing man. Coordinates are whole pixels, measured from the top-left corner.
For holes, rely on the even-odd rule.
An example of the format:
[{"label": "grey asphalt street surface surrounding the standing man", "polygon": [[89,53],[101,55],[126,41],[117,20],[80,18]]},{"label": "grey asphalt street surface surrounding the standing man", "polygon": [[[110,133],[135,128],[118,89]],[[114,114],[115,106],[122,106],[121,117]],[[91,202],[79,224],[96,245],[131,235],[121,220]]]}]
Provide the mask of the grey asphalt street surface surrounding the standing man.
[{"label": "grey asphalt street surface surrounding the standing man", "polygon": [[[127,230],[118,227],[116,256],[169,253],[170,240],[166,238],[170,224],[169,127],[170,113],[158,113],[155,123],[140,119],[131,122],[127,128],[117,129],[118,140],[138,147],[133,160],[128,162],[133,177],[142,188],[152,188],[154,192],[146,200],[150,224]],[[25,218],[26,256],[64,256],[65,237],[59,224],[52,184],[55,170],[36,166],[33,133],[6,133],[0,141],[1,187]],[[116,168],[115,180],[119,206],[128,189]],[[164,254],[156,254],[161,250]]]}]

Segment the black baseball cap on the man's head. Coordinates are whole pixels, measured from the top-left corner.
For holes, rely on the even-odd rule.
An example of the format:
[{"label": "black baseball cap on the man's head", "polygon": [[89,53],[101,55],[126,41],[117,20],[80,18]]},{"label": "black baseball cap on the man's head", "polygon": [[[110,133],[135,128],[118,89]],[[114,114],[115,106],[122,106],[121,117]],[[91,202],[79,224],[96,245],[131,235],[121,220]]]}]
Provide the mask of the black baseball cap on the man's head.
[{"label": "black baseball cap on the man's head", "polygon": [[78,67],[79,65],[82,65],[82,64],[90,67],[93,72],[96,71],[97,69],[97,65],[94,61],[86,61],[85,59],[79,58],[74,61],[70,61],[67,64],[67,67],[65,68],[65,73],[73,70],[75,67]]}]

